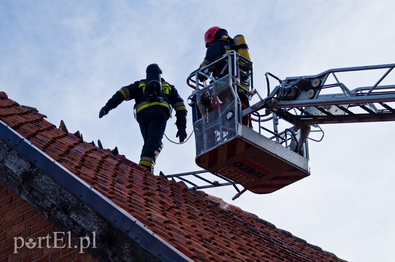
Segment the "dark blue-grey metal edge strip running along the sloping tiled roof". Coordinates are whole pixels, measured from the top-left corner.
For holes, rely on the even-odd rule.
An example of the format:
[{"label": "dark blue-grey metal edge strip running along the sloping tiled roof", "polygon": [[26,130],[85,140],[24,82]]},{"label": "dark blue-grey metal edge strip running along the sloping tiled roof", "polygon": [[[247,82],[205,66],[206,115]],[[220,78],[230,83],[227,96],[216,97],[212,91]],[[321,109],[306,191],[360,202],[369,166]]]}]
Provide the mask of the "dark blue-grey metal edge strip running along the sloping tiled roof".
[{"label": "dark blue-grey metal edge strip running along the sloping tiled roof", "polygon": [[160,261],[192,261],[0,120],[0,139]]}]

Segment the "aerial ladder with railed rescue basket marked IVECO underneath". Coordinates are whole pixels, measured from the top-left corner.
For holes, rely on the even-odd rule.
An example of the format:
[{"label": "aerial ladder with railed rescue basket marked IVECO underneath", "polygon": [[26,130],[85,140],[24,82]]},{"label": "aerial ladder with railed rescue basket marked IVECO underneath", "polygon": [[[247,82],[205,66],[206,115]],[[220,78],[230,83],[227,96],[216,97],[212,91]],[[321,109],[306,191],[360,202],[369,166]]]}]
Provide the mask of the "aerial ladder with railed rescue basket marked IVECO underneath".
[{"label": "aerial ladder with railed rescue basket marked IVECO underneath", "polygon": [[[216,79],[209,74],[210,67],[224,62],[223,77]],[[245,63],[250,72],[240,69]],[[192,185],[190,190],[231,185],[237,190],[233,199],[246,190],[266,194],[286,187],[310,175],[308,140],[322,140],[321,124],[395,120],[395,85],[386,83],[394,67],[339,68],[284,80],[268,72],[267,97],[262,98],[253,86],[252,63],[231,51],[187,78],[194,89],[188,101],[194,119],[195,161],[203,170],[160,175],[177,177]],[[377,79],[372,86],[350,89],[340,76],[347,78],[356,72],[374,72]],[[240,76],[246,73],[249,91],[240,88]],[[273,90],[269,77],[278,82]],[[242,110],[237,90],[249,98],[258,97],[258,101]],[[248,116],[256,126],[242,124],[242,118]],[[283,127],[280,121],[289,127],[279,131]],[[321,134],[319,139],[311,137],[315,132]],[[211,173],[222,182],[211,181],[203,173]],[[188,179],[190,176],[206,185],[197,185]]]}]

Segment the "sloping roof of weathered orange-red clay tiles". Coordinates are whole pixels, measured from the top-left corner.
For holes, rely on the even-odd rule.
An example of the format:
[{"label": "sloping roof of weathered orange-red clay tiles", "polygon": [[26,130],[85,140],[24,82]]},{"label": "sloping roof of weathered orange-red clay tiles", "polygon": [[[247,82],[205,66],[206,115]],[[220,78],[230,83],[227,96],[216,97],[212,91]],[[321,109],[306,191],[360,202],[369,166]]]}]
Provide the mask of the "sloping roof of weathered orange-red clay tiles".
[{"label": "sloping roof of weathered orange-red clay tiles", "polygon": [[84,142],[63,121],[57,128],[44,118],[0,92],[1,121],[192,260],[343,261],[222,199]]}]

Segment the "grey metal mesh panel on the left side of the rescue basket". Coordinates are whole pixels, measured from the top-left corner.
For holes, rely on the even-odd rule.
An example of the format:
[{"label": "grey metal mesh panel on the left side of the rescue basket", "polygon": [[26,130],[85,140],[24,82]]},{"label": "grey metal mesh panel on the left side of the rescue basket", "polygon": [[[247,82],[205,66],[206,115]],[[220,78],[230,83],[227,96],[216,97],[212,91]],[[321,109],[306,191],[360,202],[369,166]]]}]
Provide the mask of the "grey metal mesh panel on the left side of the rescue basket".
[{"label": "grey metal mesh panel on the left side of the rescue basket", "polygon": [[237,136],[236,101],[229,77],[224,77],[197,93],[202,118],[195,122],[197,155]]}]

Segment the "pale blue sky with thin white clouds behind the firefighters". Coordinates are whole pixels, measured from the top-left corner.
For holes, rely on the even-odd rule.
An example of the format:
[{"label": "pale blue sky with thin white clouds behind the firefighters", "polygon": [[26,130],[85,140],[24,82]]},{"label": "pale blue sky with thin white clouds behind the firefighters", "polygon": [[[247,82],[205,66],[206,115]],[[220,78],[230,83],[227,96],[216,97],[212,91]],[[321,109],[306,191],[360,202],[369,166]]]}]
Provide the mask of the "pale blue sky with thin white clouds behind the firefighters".
[{"label": "pale blue sky with thin white clouds behind the firefighters", "polygon": [[[1,0],[0,91],[138,162],[143,142],[134,102],[99,119],[101,107],[120,87],[145,78],[151,63],[187,100],[193,89],[186,79],[204,58],[208,28],[244,35],[254,87],[266,96],[266,72],[284,79],[394,63],[393,7],[390,0]],[[362,74],[350,85],[374,80]],[[234,201],[233,187],[205,191],[341,259],[393,261],[395,123],[321,128],[323,140],[309,142],[308,178]],[[173,117],[165,134],[178,142],[176,131]],[[165,138],[163,144],[156,175],[201,169],[194,135],[182,145]]]}]

